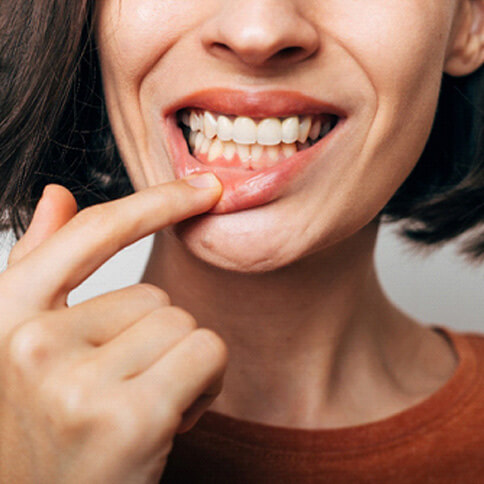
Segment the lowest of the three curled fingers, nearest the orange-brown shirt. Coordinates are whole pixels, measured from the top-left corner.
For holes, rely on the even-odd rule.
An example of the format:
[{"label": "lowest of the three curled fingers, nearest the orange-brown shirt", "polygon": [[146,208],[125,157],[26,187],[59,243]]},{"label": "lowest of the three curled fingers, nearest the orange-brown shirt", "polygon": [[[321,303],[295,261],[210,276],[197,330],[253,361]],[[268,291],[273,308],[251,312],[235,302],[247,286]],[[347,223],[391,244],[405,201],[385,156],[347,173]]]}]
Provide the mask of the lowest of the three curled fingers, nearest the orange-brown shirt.
[{"label": "lowest of the three curled fingers, nearest the orange-brown shirt", "polygon": [[[227,357],[227,348],[220,337],[200,328],[130,381],[154,408],[156,402],[169,402],[170,410],[181,415],[202,394],[219,391]],[[166,409],[160,412],[163,410]]]}]

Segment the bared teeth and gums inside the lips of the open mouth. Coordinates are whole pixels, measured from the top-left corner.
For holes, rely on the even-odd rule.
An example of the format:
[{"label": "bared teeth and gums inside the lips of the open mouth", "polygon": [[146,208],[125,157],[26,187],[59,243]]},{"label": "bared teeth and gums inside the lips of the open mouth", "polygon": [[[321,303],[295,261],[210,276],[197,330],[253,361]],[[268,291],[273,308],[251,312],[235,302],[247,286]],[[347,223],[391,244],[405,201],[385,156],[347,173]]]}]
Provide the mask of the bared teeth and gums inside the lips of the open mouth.
[{"label": "bared teeth and gums inside the lips of the open mouth", "polygon": [[261,171],[325,138],[338,124],[334,114],[252,118],[184,108],[177,112],[189,152],[210,167]]}]

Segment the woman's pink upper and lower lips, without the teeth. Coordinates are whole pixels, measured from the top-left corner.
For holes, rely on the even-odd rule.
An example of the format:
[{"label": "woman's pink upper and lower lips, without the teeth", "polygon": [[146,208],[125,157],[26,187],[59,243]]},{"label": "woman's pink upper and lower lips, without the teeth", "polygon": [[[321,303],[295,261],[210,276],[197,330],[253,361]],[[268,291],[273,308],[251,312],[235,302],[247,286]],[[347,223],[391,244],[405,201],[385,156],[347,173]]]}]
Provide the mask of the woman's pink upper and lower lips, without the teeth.
[{"label": "woman's pink upper and lower lips, without the teeth", "polygon": [[[176,112],[187,107],[254,118],[325,113],[338,116],[338,123],[310,148],[270,168],[251,171],[244,168],[205,165],[192,156],[176,120]],[[346,117],[347,113],[340,107],[294,91],[251,92],[221,88],[191,94],[172,104],[162,113],[176,178],[212,172],[222,182],[222,196],[209,211],[213,214],[245,210],[279,198],[309,165],[316,161],[324,162],[321,156],[342,130]]]}]

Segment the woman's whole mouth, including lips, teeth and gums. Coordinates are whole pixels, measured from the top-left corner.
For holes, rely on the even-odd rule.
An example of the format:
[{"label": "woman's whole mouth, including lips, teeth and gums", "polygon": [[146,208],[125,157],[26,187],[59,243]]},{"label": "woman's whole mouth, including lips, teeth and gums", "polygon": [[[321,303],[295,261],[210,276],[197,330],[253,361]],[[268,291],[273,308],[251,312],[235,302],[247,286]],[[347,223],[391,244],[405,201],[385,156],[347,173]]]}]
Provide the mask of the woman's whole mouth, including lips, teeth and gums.
[{"label": "woman's whole mouth, including lips, teeth and gums", "polygon": [[209,213],[222,214],[283,195],[346,116],[299,93],[218,89],[181,101],[164,119],[176,177],[213,172],[224,191]]}]

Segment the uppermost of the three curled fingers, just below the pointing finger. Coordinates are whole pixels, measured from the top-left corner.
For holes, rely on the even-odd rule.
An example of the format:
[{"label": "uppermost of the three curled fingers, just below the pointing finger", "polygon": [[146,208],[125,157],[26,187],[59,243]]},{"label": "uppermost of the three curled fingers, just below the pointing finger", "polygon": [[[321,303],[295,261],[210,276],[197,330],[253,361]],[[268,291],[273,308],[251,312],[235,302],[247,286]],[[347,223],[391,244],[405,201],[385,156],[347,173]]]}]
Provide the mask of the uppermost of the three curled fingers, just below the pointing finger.
[{"label": "uppermost of the three curled fingers, just below the pointing finger", "polygon": [[49,320],[61,331],[68,330],[72,337],[100,346],[168,304],[170,299],[161,289],[151,284],[136,284],[52,311]]}]

